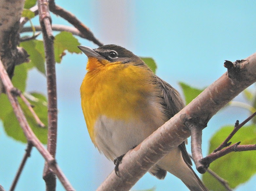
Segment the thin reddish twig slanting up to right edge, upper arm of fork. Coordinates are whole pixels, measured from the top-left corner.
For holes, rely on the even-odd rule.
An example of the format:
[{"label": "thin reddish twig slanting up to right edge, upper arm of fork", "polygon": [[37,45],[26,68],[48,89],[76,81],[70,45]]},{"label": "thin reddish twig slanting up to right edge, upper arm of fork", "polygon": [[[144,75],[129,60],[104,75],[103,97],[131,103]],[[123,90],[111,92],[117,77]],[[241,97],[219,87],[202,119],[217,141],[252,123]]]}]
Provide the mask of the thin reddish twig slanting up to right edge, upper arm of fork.
[{"label": "thin reddish twig slanting up to right edge, upper arm of fork", "polygon": [[254,116],[256,115],[256,112],[254,112],[253,114],[251,114],[251,116],[249,116],[246,120],[244,120],[242,123],[239,124],[239,121],[236,121],[235,123],[235,127],[233,129],[233,131],[229,134],[229,136],[221,143],[221,145],[216,148],[213,153],[220,151],[221,149],[223,149],[224,147],[227,147],[231,144],[228,143],[228,141],[234,136],[234,134],[242,127],[244,126],[248,121],[250,121]]}]

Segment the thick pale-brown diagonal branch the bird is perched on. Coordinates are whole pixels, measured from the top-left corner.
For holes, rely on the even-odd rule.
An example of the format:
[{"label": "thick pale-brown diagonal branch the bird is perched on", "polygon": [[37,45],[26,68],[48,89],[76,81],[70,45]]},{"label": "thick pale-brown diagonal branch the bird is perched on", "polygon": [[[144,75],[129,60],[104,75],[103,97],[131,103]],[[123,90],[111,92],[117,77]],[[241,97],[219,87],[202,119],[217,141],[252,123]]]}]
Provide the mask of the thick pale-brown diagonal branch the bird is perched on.
[{"label": "thick pale-brown diagonal branch the bird is perched on", "polygon": [[190,104],[129,151],[119,165],[119,177],[112,171],[98,190],[129,190],[158,160],[190,136],[185,125],[186,119],[207,124],[218,110],[256,81],[256,53],[233,65],[235,69],[229,69]]}]

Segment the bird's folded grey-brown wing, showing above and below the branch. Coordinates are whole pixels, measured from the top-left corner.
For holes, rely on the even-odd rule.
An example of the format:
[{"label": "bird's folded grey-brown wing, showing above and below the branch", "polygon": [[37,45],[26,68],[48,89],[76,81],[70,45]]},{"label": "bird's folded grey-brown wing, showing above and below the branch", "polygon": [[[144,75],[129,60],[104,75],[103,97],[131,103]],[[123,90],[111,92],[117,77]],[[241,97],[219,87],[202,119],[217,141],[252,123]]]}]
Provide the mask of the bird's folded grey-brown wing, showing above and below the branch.
[{"label": "bird's folded grey-brown wing, showing above and below the branch", "polygon": [[[178,93],[178,91],[173,88],[169,83],[160,79],[156,76],[157,85],[161,90],[162,105],[165,108],[165,113],[168,116],[168,119],[171,119],[176,113],[178,113],[182,108],[185,107],[184,102]],[[192,161],[187,152],[185,141],[179,145],[181,150],[182,157],[187,164],[192,165]]]}]

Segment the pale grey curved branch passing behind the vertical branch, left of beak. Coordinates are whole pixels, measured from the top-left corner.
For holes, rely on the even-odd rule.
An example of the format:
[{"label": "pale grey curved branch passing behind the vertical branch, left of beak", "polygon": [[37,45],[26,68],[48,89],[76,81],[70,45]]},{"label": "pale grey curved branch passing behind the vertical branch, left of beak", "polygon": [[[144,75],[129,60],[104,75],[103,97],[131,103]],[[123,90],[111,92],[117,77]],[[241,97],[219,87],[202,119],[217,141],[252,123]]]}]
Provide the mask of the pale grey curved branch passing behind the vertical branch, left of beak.
[{"label": "pale grey curved branch passing behind the vertical branch, left of beak", "polygon": [[[36,31],[42,31],[41,26],[35,25],[34,27],[35,27]],[[73,35],[76,35],[76,36],[79,36],[82,38],[86,38],[77,28],[72,27],[72,26],[65,26],[62,24],[52,24],[52,30],[53,31],[67,31],[67,32],[72,33]],[[24,27],[24,28],[22,28],[21,33],[24,33],[24,32],[33,32],[33,30],[31,27]]]}]

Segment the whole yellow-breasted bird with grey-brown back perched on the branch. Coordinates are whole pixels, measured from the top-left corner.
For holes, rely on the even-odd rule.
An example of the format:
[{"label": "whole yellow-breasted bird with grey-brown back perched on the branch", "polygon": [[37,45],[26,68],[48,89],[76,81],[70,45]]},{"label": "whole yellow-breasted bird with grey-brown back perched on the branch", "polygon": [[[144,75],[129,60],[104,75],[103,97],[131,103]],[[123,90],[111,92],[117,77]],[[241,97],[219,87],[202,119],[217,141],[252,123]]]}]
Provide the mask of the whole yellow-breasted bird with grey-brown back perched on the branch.
[{"label": "whole yellow-breasted bird with grey-brown back perched on the branch", "polygon": [[[114,44],[78,48],[88,57],[80,87],[86,126],[94,145],[116,164],[117,174],[122,156],[184,108],[184,101],[129,50]],[[164,179],[168,171],[192,191],[208,190],[191,165],[183,142],[149,173]]]}]

